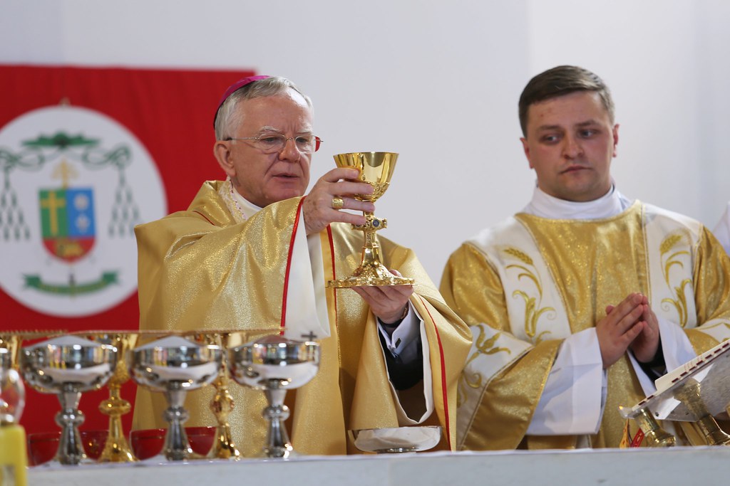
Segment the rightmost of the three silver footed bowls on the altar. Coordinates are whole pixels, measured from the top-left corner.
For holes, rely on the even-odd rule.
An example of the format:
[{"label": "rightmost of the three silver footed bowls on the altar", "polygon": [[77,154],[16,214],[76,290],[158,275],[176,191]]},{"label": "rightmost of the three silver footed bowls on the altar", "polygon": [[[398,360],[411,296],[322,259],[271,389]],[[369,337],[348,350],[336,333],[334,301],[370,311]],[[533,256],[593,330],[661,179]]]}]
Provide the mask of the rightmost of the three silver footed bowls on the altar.
[{"label": "rightmost of the three silver footed bowls on the altar", "polygon": [[264,458],[292,458],[296,455],[284,421],[289,408],[284,404],[286,391],[312,380],[319,369],[319,344],[292,341],[283,336],[261,337],[232,348],[228,359],[231,376],[237,383],[264,390],[269,406],[261,415],[268,421]]}]

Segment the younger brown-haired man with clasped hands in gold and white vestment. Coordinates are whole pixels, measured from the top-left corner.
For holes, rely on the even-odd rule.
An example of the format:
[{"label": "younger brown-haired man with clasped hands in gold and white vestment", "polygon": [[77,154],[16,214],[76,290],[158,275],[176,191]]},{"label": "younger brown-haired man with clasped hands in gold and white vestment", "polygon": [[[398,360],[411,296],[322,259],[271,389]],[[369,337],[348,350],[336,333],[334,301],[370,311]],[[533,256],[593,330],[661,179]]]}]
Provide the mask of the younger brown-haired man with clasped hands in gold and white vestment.
[{"label": "younger brown-haired man with clasped hands in gold and white vestment", "polygon": [[702,224],[615,187],[618,124],[596,74],[538,74],[519,115],[532,199],[467,240],[442,276],[474,337],[458,448],[638,443],[618,407],[730,337],[730,259]]}]

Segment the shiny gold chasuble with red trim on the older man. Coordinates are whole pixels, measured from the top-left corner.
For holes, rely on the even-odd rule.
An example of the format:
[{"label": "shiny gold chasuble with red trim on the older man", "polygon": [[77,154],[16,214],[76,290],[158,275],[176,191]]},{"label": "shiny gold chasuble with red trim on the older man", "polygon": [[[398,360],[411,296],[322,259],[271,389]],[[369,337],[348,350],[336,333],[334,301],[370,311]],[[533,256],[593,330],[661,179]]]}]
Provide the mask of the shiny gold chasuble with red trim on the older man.
[{"label": "shiny gold chasuble with red trim on the older man", "polygon": [[[285,302],[289,269],[297,264],[290,249],[297,225],[304,224],[302,198],[268,205],[245,220],[234,216],[231,199],[220,190],[223,184],[208,181],[188,211],[137,227],[140,329],[269,328],[276,333],[288,318],[297,317],[299,309],[285,308]],[[445,434],[439,447],[456,445],[456,387],[471,342],[469,329],[445,305],[412,251],[385,238],[380,244],[388,268],[415,278],[410,303],[423,319],[435,413],[427,418],[418,413],[426,407],[423,383],[407,391],[392,387],[376,319],[361,297],[350,289],[326,289],[329,322],[324,325],[330,336],[319,341],[320,369],[310,383],[286,396],[287,426],[298,452],[357,452],[348,429],[413,423],[441,425]],[[325,280],[350,275],[359,264],[362,235],[349,224],[332,224],[320,233],[320,246]],[[235,402],[228,417],[234,441],[242,455],[253,457],[266,436],[264,393],[234,382],[228,388]],[[188,393],[185,426],[216,425],[212,392],[206,387]],[[400,407],[416,410],[415,417],[409,414],[414,421],[401,420]],[[139,387],[133,428],[166,426],[165,408],[161,393]]]}]

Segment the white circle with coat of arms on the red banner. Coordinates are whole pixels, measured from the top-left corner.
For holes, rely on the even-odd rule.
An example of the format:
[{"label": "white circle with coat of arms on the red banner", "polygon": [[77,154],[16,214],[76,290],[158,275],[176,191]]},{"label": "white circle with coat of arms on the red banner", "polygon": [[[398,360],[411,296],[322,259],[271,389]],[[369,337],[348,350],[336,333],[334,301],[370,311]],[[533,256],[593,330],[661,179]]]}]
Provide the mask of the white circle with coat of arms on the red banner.
[{"label": "white circle with coat of arms on the red banner", "polygon": [[0,288],[79,317],[137,290],[134,226],[165,216],[164,185],[137,138],[78,106],[28,111],[0,130]]}]

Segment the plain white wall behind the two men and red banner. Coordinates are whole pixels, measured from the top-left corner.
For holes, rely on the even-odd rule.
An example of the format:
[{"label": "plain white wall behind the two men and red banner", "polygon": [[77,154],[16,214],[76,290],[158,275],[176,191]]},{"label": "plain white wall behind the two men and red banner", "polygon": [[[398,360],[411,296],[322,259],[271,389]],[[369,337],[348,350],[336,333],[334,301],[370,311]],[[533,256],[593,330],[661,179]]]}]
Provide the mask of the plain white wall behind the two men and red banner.
[{"label": "plain white wall behind the two men and red banner", "polygon": [[621,192],[714,227],[730,199],[729,24],[723,0],[3,0],[0,63],[289,77],[326,139],[312,182],[332,154],[400,153],[382,235],[438,282],[462,240],[529,199],[517,101],[558,64],[612,88]]}]

